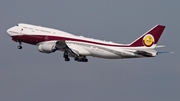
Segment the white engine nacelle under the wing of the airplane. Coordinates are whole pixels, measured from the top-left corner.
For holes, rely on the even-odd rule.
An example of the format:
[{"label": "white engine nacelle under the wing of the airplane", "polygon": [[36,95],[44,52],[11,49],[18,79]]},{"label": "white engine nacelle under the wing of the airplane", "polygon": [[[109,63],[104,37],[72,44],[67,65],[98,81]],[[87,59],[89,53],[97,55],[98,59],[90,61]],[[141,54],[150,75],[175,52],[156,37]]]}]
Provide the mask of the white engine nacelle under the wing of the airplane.
[{"label": "white engine nacelle under the wing of the airplane", "polygon": [[52,53],[56,50],[56,44],[55,43],[43,43],[38,46],[39,52],[42,53]]}]

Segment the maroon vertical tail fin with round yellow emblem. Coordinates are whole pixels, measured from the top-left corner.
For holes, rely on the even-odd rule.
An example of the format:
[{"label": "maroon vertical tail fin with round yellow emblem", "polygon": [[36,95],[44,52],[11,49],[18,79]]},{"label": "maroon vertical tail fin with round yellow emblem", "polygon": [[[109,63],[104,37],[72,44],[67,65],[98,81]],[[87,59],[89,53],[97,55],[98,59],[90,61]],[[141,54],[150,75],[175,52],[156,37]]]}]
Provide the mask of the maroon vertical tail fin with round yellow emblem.
[{"label": "maroon vertical tail fin with round yellow emblem", "polygon": [[163,33],[165,26],[156,25],[145,34],[137,38],[135,41],[130,43],[132,47],[146,46],[146,47],[155,47],[161,34]]}]

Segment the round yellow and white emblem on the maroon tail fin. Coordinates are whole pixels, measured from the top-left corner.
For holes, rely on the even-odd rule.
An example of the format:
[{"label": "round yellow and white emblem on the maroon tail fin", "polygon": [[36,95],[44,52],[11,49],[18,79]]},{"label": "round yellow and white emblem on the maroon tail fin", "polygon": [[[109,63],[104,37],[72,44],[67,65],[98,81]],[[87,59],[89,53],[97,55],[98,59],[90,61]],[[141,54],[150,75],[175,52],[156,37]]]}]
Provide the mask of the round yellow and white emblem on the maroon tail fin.
[{"label": "round yellow and white emblem on the maroon tail fin", "polygon": [[143,38],[143,44],[147,47],[151,47],[154,44],[154,37],[151,34],[147,34]]}]

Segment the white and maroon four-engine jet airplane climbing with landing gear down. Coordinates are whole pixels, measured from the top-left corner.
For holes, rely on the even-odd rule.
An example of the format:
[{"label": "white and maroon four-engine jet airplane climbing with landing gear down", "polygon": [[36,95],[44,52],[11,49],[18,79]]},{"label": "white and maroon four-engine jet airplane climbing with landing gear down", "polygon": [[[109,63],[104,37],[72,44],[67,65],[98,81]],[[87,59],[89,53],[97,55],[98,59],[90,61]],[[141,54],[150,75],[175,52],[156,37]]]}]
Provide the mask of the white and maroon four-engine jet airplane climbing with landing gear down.
[{"label": "white and maroon four-engine jet airplane climbing with landing gear down", "polygon": [[18,49],[22,43],[38,46],[39,52],[53,53],[62,51],[65,61],[70,57],[78,62],[88,62],[87,56],[105,59],[130,59],[155,57],[160,52],[155,48],[164,25],[156,25],[130,44],[119,44],[111,41],[102,41],[84,36],[76,36],[61,30],[37,25],[19,23],[7,30],[12,40],[18,42]]}]

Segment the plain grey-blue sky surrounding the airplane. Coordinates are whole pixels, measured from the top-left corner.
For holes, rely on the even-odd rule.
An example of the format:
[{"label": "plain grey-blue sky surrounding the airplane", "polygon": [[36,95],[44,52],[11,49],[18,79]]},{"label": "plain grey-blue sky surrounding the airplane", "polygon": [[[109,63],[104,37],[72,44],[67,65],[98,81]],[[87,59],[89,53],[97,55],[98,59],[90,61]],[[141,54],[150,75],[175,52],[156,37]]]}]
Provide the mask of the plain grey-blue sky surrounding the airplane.
[{"label": "plain grey-blue sky surrounding the airplane", "polygon": [[[1,0],[0,101],[179,101],[179,0]],[[17,23],[130,43],[166,27],[155,58],[65,62],[62,52],[18,50],[6,30]]]}]

